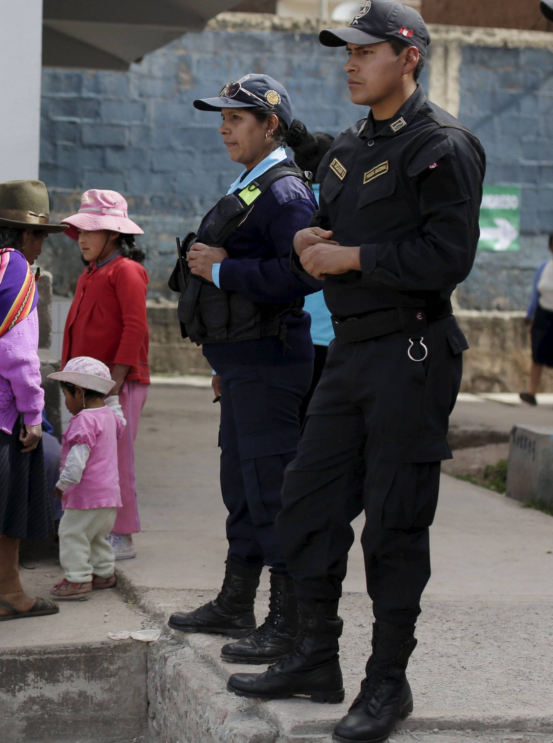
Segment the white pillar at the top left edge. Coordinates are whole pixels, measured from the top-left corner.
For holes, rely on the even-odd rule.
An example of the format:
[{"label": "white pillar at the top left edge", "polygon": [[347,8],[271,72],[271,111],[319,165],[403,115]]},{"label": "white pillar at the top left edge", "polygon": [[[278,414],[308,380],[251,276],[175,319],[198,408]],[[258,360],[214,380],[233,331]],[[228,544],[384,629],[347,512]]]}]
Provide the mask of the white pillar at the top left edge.
[{"label": "white pillar at the top left edge", "polygon": [[0,0],[0,182],[39,177],[42,0]]}]

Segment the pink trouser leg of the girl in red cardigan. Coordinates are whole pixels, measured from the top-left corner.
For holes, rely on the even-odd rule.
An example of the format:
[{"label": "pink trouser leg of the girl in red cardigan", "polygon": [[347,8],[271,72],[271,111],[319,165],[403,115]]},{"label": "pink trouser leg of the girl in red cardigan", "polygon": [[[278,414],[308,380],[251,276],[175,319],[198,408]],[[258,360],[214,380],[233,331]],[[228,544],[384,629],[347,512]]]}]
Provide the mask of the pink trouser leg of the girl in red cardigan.
[{"label": "pink trouser leg of the girl in red cardigan", "polygon": [[148,385],[136,381],[124,382],[119,392],[119,401],[127,425],[117,441],[119,481],[122,506],[117,509],[114,533],[136,534],[140,531],[137,505],[137,480],[134,474],[134,441],[137,438],[140,413],[148,397]]}]

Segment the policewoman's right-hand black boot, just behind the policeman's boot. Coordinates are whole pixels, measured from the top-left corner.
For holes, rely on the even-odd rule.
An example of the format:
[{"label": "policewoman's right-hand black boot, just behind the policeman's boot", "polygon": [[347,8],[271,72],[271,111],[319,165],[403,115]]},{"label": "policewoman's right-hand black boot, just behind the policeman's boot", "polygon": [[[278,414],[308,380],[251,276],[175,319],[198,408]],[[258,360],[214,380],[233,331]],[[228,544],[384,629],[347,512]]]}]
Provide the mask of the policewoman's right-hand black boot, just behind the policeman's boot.
[{"label": "policewoman's right-hand black boot, just behind the policeman's boot", "polygon": [[223,646],[220,657],[234,663],[276,663],[293,652],[298,635],[298,600],[292,578],[271,573],[269,614],[249,637]]}]

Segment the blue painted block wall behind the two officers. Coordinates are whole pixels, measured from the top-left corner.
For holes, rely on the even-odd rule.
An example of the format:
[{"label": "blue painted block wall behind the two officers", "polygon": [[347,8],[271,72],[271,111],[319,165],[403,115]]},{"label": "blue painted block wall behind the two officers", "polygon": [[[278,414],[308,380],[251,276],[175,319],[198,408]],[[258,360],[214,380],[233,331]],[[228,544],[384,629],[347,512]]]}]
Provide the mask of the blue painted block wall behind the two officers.
[{"label": "blue painted block wall behind the two officers", "polygon": [[[343,61],[343,50],[313,35],[204,31],[128,73],[46,69],[40,172],[54,216],[76,210],[85,189],[122,192],[145,230],[151,296],[171,296],[174,236],[197,227],[240,171],[221,147],[217,114],[196,111],[192,100],[247,71],[265,72],[287,87],[309,129],[337,134],[364,115],[350,103]],[[459,299],[468,308],[523,308],[553,233],[553,56],[467,46],[459,85],[459,118],[485,145],[488,183],[523,184],[522,250],[479,253]],[[55,291],[71,293],[82,270],[72,241],[51,237],[42,265]]]}]

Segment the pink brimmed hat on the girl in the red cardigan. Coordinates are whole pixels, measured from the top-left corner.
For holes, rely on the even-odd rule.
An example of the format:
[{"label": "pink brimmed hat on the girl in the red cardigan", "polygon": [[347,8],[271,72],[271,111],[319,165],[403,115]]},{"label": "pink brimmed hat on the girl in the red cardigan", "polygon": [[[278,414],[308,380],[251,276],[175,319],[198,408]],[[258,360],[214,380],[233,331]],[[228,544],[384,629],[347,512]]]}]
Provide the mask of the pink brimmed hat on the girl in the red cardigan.
[{"label": "pink brimmed hat on the girl in the red cardigan", "polygon": [[62,219],[61,224],[69,225],[65,234],[73,240],[79,239],[77,230],[113,230],[124,235],[144,234],[144,230],[128,218],[128,204],[120,193],[96,188],[83,193],[79,211]]}]

